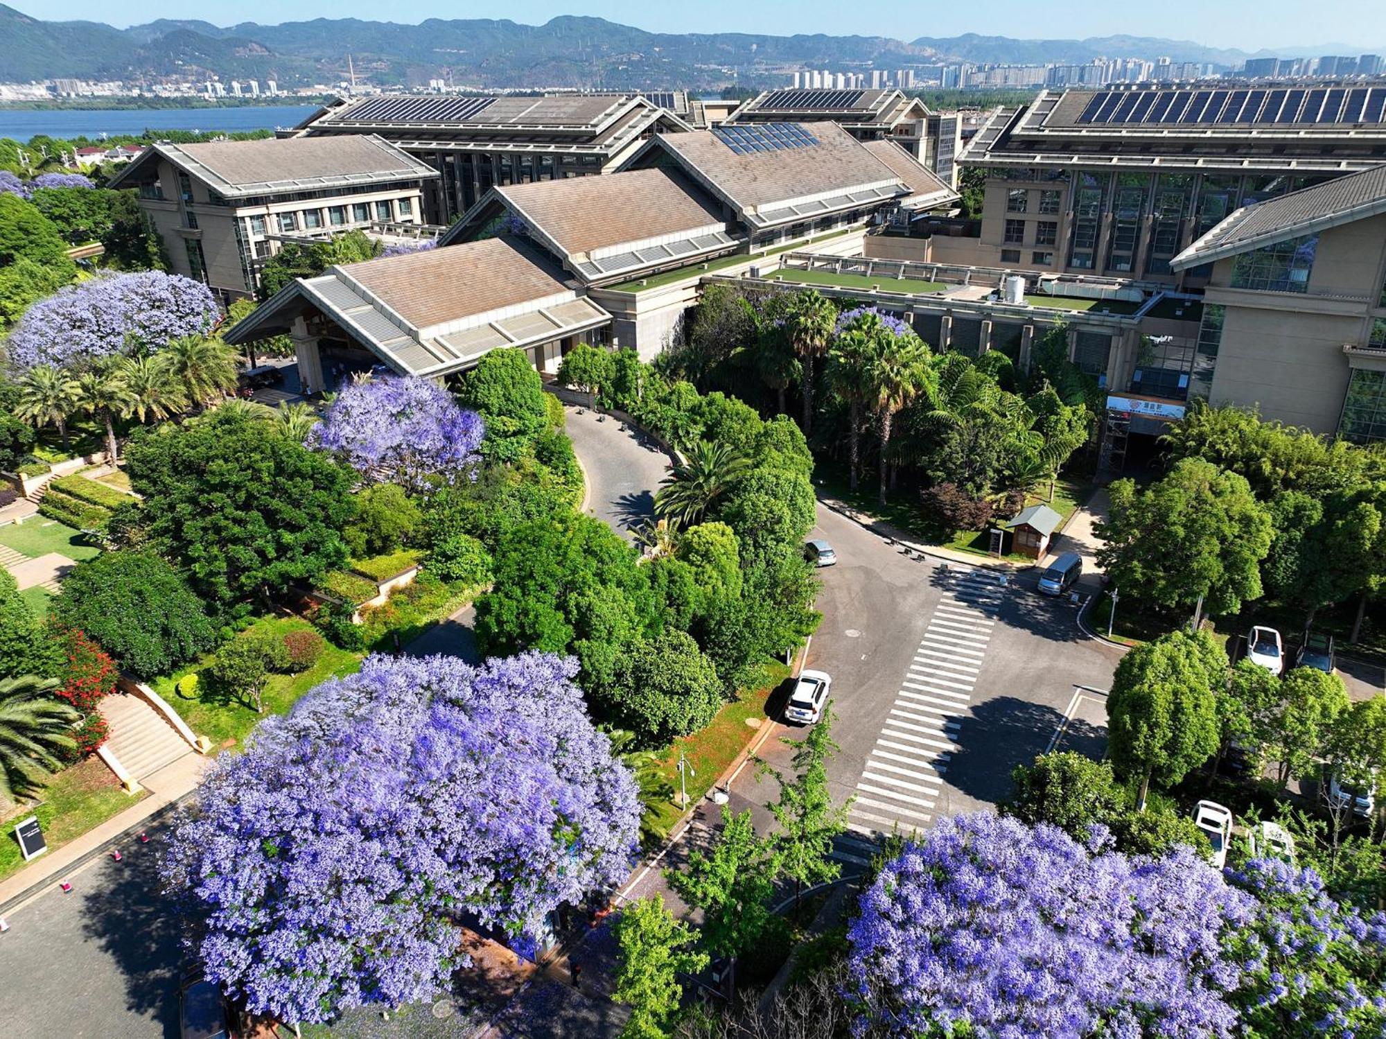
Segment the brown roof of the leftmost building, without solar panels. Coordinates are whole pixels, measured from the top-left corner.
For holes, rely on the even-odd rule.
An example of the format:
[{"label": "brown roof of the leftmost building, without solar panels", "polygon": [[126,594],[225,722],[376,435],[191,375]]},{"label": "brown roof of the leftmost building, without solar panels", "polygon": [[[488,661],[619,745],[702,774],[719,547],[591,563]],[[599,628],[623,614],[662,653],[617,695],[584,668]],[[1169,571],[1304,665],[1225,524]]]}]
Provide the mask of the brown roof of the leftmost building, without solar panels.
[{"label": "brown roof of the leftmost building, without solar panels", "polygon": [[226,197],[437,177],[438,170],[370,134],[155,144],[112,187],[134,183],[161,155]]}]

